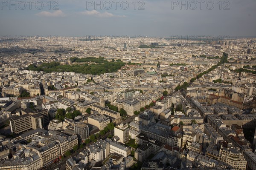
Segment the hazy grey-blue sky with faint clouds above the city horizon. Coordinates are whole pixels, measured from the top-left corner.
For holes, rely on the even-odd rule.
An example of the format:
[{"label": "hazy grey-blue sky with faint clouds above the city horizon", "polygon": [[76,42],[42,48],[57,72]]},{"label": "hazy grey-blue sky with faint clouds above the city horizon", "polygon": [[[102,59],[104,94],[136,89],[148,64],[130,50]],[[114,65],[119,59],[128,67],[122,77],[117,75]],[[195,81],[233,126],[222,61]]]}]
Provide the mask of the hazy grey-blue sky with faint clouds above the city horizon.
[{"label": "hazy grey-blue sky with faint clouds above the city horizon", "polygon": [[0,35],[256,37],[256,0],[0,0]]}]

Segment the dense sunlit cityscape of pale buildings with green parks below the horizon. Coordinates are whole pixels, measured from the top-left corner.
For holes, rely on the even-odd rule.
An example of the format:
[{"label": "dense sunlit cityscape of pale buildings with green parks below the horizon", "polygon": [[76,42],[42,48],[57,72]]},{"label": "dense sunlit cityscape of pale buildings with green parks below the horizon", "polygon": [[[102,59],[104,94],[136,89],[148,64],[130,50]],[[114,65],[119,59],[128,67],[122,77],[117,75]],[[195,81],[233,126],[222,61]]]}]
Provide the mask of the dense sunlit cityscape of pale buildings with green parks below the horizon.
[{"label": "dense sunlit cityscape of pale buildings with green parks below the horizon", "polygon": [[1,34],[0,170],[256,170],[256,37]]}]

